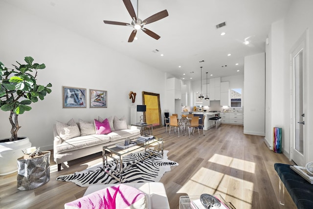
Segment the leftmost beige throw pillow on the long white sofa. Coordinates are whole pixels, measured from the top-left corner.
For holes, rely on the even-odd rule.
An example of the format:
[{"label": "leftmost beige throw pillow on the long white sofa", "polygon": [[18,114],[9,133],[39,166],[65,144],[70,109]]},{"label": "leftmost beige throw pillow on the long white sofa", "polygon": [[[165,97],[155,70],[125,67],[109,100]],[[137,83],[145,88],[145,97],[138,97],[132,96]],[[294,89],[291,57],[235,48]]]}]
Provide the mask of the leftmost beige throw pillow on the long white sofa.
[{"label": "leftmost beige throw pillow on the long white sofa", "polygon": [[58,135],[63,140],[72,139],[74,137],[80,136],[78,125],[76,124],[73,118],[70,119],[67,122],[67,124],[62,123],[60,121],[56,121],[55,125],[56,125]]}]

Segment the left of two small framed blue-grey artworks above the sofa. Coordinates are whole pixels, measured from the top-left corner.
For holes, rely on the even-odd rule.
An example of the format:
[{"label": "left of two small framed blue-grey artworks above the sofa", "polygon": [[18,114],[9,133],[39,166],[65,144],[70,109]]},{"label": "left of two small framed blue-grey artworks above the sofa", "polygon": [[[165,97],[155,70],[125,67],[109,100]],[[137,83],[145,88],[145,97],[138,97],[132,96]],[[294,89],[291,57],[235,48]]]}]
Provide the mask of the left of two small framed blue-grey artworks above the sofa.
[{"label": "left of two small framed blue-grey artworks above the sofa", "polygon": [[86,89],[62,87],[63,108],[86,107]]}]

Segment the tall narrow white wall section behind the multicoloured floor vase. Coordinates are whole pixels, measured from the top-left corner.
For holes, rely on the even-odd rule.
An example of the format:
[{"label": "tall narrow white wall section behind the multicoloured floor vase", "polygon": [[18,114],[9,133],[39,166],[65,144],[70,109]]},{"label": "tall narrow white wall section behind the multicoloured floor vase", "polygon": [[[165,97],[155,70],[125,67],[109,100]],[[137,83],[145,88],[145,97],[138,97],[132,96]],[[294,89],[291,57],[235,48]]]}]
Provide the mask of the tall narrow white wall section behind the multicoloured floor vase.
[{"label": "tall narrow white wall section behind the multicoloured floor vase", "polygon": [[[284,57],[284,21],[280,20],[271,24],[268,33],[268,45],[266,45],[266,135],[265,139],[273,148],[273,127],[284,126],[284,94],[286,84],[283,78],[286,69]],[[288,69],[288,66],[287,66]],[[288,118],[287,118],[288,119]],[[289,130],[283,128],[283,136],[287,136]],[[284,143],[283,147],[289,147]]]}]

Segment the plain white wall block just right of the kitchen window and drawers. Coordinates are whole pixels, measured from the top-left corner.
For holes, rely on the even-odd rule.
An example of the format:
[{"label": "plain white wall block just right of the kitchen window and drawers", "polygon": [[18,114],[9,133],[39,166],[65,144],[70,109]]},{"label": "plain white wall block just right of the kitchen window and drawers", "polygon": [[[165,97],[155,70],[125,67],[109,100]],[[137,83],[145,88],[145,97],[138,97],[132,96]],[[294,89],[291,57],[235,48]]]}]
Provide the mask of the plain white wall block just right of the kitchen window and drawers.
[{"label": "plain white wall block just right of the kitchen window and drawers", "polygon": [[244,134],[265,136],[265,53],[245,57]]}]

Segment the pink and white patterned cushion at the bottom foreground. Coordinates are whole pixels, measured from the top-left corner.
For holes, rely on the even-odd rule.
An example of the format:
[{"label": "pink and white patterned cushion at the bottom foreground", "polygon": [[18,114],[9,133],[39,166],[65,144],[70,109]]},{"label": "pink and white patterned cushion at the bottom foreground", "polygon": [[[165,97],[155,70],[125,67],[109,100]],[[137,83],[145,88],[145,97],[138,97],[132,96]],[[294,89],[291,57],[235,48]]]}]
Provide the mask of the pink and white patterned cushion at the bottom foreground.
[{"label": "pink and white patterned cushion at the bottom foreground", "polygon": [[65,204],[65,209],[81,208],[103,209],[147,209],[148,201],[145,193],[132,186],[115,185]]}]

